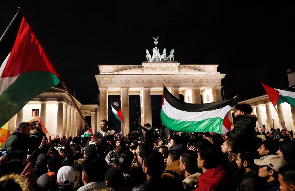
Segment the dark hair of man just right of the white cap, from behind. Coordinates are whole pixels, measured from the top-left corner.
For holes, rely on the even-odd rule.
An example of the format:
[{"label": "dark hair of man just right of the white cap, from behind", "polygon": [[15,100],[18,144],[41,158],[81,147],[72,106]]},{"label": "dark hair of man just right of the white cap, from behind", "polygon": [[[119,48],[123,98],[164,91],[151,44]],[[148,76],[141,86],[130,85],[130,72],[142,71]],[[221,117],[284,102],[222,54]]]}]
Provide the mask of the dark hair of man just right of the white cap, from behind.
[{"label": "dark hair of man just right of the white cap, from behind", "polygon": [[104,181],[104,173],[107,170],[105,161],[86,158],[83,162],[83,171],[91,182]]}]

